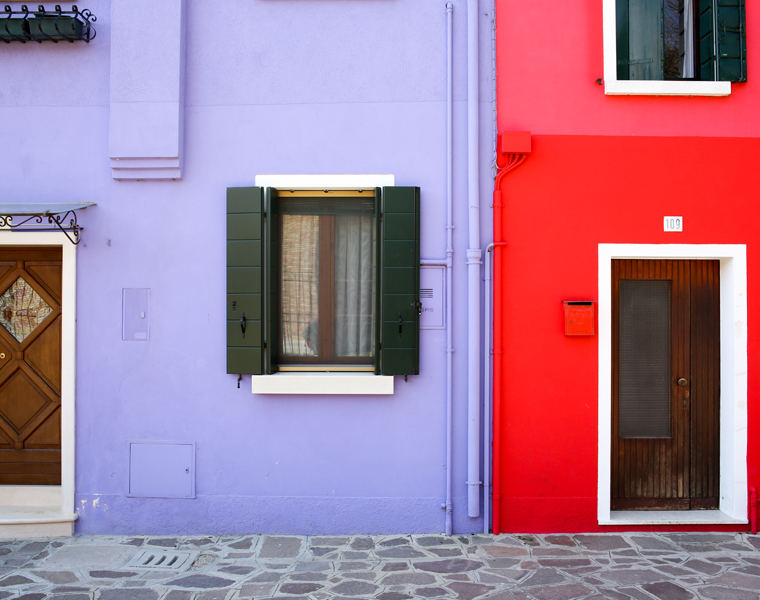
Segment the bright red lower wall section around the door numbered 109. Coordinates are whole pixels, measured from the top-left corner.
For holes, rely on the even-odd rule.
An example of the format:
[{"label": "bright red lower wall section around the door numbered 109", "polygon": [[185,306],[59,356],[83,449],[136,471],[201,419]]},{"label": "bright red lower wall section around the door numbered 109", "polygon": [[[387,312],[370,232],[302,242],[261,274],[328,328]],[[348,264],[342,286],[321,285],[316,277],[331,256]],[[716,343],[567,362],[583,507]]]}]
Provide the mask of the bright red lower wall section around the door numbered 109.
[{"label": "bright red lower wall section around the door numbered 109", "polygon": [[[533,137],[502,186],[502,531],[611,529],[596,523],[598,338],[566,337],[562,309],[598,299],[600,243],[747,244],[749,481],[760,487],[758,159],[753,138]],[[664,233],[665,215],[683,216],[684,232]]]}]

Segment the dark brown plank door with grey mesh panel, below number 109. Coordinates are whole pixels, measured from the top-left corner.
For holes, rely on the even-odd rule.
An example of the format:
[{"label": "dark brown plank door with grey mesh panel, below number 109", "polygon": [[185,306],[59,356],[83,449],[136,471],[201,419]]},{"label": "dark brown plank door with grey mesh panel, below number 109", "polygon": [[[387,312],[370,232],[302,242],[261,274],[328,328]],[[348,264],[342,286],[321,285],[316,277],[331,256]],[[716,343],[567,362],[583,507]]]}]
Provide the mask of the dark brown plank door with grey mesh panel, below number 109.
[{"label": "dark brown plank door with grey mesh panel, below number 109", "polygon": [[718,508],[719,275],[612,262],[612,510]]}]

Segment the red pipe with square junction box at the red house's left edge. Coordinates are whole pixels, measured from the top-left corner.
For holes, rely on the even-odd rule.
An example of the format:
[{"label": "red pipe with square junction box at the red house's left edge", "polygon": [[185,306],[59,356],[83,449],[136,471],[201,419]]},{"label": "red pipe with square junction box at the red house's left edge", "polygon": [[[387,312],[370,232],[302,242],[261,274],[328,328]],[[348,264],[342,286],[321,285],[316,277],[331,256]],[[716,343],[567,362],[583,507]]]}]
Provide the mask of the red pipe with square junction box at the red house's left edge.
[{"label": "red pipe with square junction box at the red house's left edge", "polygon": [[501,399],[504,369],[504,292],[506,290],[505,261],[501,249],[504,241],[504,202],[501,185],[504,176],[520,166],[530,154],[529,131],[505,131],[499,134],[496,154],[496,181],[493,192],[493,533],[501,533]]}]

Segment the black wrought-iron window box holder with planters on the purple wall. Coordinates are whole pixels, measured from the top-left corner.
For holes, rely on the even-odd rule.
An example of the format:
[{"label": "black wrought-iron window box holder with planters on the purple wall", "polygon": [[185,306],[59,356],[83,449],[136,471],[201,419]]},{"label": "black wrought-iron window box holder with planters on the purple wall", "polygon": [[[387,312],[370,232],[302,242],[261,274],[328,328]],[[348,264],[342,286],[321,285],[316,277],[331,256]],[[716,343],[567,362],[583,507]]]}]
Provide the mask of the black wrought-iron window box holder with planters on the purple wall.
[{"label": "black wrought-iron window box holder with planters on the purple wall", "polygon": [[[4,20],[0,21],[0,40],[6,44],[11,42],[71,42],[81,40],[90,43],[95,39],[93,22],[98,18],[92,11],[85,8],[80,11],[76,4],[71,10],[61,10],[61,5],[56,4],[55,9],[46,11],[40,4],[37,10],[29,14],[26,4],[21,5],[20,10],[13,10],[9,4],[5,5]],[[16,16],[16,18],[12,18]]]}]

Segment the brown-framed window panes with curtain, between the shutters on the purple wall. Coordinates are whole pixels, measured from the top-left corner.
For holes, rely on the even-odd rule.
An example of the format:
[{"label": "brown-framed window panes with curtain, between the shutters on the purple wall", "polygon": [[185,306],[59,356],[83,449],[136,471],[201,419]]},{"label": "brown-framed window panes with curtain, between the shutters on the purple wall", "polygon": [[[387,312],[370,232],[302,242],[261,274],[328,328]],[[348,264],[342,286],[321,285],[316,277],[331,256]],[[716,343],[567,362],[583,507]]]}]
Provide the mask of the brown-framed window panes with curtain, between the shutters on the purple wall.
[{"label": "brown-framed window panes with curtain, between the shutters on the purple wall", "polygon": [[278,202],[281,362],[372,364],[374,197]]}]

